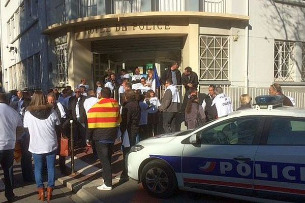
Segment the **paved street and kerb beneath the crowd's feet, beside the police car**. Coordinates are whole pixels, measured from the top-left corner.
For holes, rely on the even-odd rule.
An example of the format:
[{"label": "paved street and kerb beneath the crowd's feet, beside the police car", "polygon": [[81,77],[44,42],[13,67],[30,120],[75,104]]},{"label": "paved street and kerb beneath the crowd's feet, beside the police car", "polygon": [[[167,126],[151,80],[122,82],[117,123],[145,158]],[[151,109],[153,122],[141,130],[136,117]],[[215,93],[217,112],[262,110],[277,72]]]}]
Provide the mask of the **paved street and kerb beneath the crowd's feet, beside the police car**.
[{"label": "paved street and kerb beneath the crowd's feet, beside the police car", "polygon": [[[192,192],[178,191],[172,197],[160,199],[150,196],[146,193],[142,184],[134,180],[129,180],[123,184],[119,183],[114,177],[119,175],[123,166],[123,154],[120,151],[120,144],[116,143],[114,154],[112,156],[112,177],[113,189],[111,191],[100,191],[97,186],[103,183],[101,178],[102,165],[99,160],[93,156],[92,149],[86,151],[85,148],[75,150],[75,171],[74,175],[63,176],[59,173],[56,165],[55,189],[51,202],[79,202],[79,203],[117,203],[117,202],[202,202],[202,203],[246,203],[236,199],[228,199],[218,196],[202,195]],[[67,166],[71,167],[70,159],[66,161]],[[3,171],[0,171],[0,177],[3,178]],[[35,182],[24,183],[22,181],[20,164],[14,163],[15,189],[17,196],[15,202],[41,202],[37,200],[37,191]],[[3,183],[0,180],[0,202],[5,202]]]}]

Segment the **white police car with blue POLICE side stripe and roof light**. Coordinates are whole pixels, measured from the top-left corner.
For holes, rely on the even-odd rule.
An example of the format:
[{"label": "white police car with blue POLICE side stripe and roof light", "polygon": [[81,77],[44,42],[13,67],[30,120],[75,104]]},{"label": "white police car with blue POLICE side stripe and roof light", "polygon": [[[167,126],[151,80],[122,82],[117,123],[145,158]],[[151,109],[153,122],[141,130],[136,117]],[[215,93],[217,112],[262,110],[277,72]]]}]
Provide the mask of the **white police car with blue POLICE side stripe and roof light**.
[{"label": "white police car with blue POLICE side stripe and roof light", "polygon": [[[128,175],[146,191],[177,189],[258,202],[305,202],[305,109],[260,96],[254,109],[131,148]],[[270,105],[273,104],[273,105]]]}]

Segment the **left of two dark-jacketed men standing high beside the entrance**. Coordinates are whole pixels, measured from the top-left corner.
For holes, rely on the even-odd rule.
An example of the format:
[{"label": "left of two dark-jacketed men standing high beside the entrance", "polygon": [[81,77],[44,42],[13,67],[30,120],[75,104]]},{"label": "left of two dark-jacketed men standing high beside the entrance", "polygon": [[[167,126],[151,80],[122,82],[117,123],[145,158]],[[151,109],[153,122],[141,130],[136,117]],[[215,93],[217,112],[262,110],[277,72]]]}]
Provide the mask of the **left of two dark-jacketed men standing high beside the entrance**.
[{"label": "left of two dark-jacketed men standing high beside the entrance", "polygon": [[181,73],[178,70],[178,63],[177,61],[173,61],[171,63],[171,67],[165,70],[161,76],[161,81],[163,85],[165,85],[166,80],[171,79],[173,85],[181,85],[182,77]]}]

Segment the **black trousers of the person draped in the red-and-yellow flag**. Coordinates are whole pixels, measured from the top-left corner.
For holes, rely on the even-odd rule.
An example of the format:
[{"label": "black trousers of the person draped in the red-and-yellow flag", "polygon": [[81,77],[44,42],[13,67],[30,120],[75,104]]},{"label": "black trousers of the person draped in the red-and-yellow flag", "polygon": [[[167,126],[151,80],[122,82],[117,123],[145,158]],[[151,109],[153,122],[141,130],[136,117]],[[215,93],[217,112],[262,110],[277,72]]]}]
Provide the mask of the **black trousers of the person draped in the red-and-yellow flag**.
[{"label": "black trousers of the person draped in the red-and-yellow flag", "polygon": [[112,143],[95,142],[97,154],[103,167],[102,178],[106,186],[112,186],[112,171],[111,171],[111,156],[112,156]]}]

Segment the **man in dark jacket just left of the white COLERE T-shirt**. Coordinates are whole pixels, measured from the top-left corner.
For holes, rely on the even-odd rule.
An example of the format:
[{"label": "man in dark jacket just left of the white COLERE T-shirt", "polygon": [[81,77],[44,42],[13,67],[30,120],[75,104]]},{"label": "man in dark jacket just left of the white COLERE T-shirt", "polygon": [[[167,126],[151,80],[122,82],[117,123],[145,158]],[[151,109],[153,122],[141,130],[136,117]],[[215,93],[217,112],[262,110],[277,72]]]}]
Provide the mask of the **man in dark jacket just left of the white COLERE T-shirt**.
[{"label": "man in dark jacket just left of the white COLERE T-shirt", "polygon": [[217,109],[212,105],[212,101],[215,98],[215,85],[210,85],[208,87],[208,94],[203,99],[202,108],[204,110],[206,116],[206,122],[216,119],[217,117]]}]

